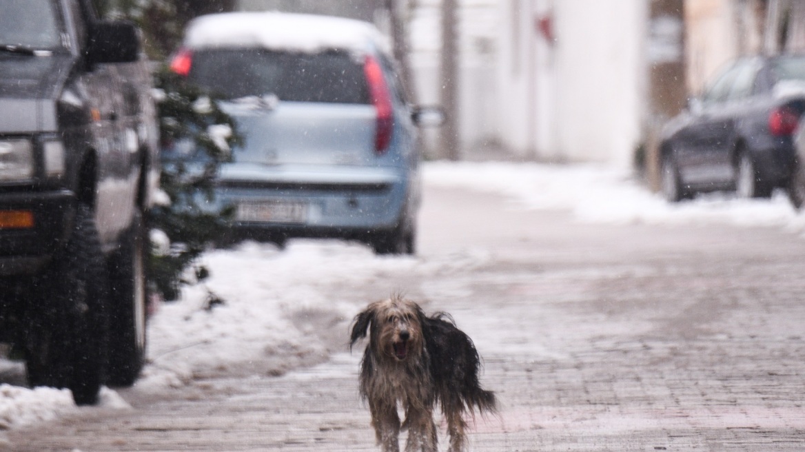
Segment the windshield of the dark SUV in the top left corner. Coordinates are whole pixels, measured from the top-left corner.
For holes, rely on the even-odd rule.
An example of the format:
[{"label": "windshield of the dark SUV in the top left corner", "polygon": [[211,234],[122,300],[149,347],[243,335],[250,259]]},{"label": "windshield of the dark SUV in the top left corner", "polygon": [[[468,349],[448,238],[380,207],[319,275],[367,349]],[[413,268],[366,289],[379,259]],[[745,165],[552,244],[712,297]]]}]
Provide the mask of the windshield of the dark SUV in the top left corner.
[{"label": "windshield of the dark SUV in the top left corner", "polygon": [[60,45],[60,23],[52,0],[5,0],[0,14],[0,45],[53,48]]}]

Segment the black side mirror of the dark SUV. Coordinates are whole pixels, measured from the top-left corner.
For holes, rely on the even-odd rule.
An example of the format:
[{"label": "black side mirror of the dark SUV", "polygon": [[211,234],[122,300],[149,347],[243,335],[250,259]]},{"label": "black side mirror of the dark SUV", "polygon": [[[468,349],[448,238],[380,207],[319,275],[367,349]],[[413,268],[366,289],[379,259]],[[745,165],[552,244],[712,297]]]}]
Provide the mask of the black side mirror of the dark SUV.
[{"label": "black side mirror of the dark SUV", "polygon": [[130,63],[140,54],[137,27],[125,21],[101,21],[89,33],[87,57],[90,64]]}]

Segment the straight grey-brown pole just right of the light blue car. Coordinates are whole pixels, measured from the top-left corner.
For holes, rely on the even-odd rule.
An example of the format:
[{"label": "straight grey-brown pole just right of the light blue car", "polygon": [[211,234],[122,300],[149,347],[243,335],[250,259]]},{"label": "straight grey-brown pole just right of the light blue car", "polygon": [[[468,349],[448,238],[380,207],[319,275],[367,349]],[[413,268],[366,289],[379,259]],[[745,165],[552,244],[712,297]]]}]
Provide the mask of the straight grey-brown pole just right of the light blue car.
[{"label": "straight grey-brown pole just right of the light blue car", "polygon": [[442,65],[441,103],[445,113],[441,129],[441,147],[449,160],[458,160],[458,33],[456,31],[456,0],[442,0]]}]

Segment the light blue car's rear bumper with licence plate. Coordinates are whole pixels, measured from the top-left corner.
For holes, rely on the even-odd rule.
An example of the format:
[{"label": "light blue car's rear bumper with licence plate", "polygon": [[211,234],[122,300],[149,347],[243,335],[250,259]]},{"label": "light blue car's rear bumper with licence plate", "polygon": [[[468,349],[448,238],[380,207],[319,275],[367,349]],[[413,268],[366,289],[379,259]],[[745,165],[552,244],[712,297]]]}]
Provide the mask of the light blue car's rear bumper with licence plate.
[{"label": "light blue car's rear bumper with licence plate", "polygon": [[252,234],[356,237],[393,229],[410,205],[411,175],[398,168],[275,168],[224,173],[215,204]]}]

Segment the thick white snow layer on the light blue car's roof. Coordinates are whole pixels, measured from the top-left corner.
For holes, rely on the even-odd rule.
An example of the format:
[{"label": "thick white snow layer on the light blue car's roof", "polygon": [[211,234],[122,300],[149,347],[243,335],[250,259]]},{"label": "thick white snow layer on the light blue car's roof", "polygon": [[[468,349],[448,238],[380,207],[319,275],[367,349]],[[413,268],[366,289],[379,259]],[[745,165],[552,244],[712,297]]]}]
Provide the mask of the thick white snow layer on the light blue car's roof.
[{"label": "thick white snow layer on the light blue car's roof", "polygon": [[279,12],[236,12],[200,16],[188,24],[184,47],[265,47],[315,53],[339,49],[367,53],[390,50],[389,39],[371,23],[351,18]]}]

